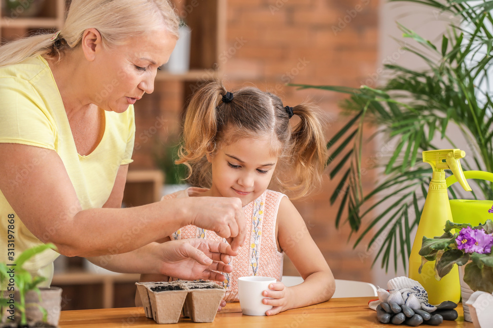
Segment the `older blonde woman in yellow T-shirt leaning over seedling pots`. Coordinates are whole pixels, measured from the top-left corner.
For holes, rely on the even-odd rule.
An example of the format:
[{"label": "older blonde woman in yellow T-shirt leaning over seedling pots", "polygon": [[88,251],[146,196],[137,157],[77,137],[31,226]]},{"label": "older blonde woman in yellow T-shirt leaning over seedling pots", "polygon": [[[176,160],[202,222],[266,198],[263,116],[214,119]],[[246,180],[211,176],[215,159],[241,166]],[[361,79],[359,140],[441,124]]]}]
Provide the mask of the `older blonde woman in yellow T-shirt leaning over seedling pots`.
[{"label": "older blonde woman in yellow T-shirt leaning over seedling pots", "polygon": [[[120,272],[222,280],[211,270],[231,270],[244,238],[239,199],[120,208],[133,105],[153,91],[177,28],[167,0],[72,0],[62,30],[0,47],[0,234],[5,244],[14,233],[15,254],[53,242],[60,254]],[[155,242],[188,224],[231,246]],[[59,253],[46,251],[28,268],[49,284]],[[1,252],[0,261],[11,260]]]}]

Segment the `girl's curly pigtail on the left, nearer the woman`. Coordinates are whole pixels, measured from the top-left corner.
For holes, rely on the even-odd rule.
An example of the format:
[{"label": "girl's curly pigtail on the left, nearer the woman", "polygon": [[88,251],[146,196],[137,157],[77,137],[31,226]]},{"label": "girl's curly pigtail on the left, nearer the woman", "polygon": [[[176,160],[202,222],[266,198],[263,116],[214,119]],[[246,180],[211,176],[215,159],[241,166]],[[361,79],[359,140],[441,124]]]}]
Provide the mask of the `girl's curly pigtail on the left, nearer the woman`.
[{"label": "girl's curly pigtail on the left, nearer the woman", "polygon": [[208,83],[195,92],[185,111],[183,143],[176,164],[188,167],[186,179],[193,186],[210,187],[210,163],[206,154],[215,150],[216,109],[225,93],[220,82]]}]

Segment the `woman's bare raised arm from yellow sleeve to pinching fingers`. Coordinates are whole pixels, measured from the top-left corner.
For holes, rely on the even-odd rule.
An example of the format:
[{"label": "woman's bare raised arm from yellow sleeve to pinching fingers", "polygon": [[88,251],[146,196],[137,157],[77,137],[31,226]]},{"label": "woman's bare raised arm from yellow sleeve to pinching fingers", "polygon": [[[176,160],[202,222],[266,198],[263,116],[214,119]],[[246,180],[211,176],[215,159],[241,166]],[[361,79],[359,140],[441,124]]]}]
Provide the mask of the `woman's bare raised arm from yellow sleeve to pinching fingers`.
[{"label": "woman's bare raised arm from yellow sleeve to pinching fingers", "polygon": [[[55,151],[1,143],[0,158],[3,195],[36,238],[53,242],[61,254],[89,257],[126,253],[187,224],[234,238],[235,250],[243,243],[245,222],[239,199],[182,198],[128,209],[82,210]],[[121,174],[126,170],[120,169]],[[20,172],[22,178],[15,179]],[[108,202],[112,202],[111,197]]]}]

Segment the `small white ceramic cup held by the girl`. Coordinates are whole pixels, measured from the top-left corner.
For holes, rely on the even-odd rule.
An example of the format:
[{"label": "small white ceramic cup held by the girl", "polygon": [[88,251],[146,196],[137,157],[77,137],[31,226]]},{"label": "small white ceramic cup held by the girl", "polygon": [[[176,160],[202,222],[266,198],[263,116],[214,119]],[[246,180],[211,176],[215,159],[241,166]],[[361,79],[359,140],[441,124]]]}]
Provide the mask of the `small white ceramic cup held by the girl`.
[{"label": "small white ceramic cup held by the girl", "polygon": [[269,284],[277,280],[271,277],[241,277],[238,278],[238,298],[243,314],[247,316],[265,316],[267,310],[272,309],[272,305],[265,305],[262,299],[262,292],[269,290]]}]

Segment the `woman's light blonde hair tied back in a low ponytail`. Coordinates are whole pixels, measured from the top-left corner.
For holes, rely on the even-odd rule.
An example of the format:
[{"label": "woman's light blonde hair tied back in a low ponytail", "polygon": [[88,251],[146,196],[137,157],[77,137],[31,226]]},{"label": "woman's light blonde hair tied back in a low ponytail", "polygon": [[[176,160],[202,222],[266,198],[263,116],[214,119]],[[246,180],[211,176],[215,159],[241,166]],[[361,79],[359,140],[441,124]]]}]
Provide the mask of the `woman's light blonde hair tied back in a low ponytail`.
[{"label": "woman's light blonde hair tied back in a low ponytail", "polygon": [[0,47],[0,67],[39,55],[54,58],[80,44],[85,30],[97,29],[107,46],[129,37],[162,29],[178,38],[179,19],[168,0],[72,0],[67,20],[56,40],[37,34]]}]

